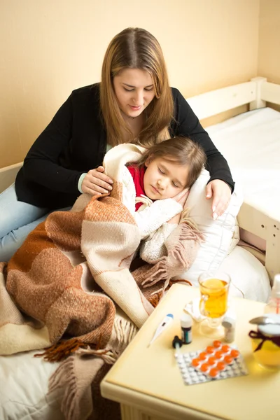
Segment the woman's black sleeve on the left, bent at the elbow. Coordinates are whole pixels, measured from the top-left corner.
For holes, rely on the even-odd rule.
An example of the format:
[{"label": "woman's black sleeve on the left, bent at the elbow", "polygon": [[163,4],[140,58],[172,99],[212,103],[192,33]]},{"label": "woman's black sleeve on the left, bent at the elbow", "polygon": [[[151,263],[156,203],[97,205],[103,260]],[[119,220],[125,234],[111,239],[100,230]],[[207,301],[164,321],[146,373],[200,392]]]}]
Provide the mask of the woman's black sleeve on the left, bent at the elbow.
[{"label": "woman's black sleeve on the left, bent at the elbow", "polygon": [[59,156],[69,147],[72,137],[71,98],[72,94],[31,146],[22,169],[27,181],[36,182],[53,191],[76,194],[82,172],[59,165]]}]

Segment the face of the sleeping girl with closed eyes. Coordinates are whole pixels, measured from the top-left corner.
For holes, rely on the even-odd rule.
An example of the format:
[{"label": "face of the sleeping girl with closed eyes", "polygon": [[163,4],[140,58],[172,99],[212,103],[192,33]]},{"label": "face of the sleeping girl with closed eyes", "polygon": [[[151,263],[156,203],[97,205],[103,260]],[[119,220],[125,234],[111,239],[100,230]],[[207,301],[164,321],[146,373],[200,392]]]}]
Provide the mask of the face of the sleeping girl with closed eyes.
[{"label": "face of the sleeping girl with closed eyes", "polygon": [[188,166],[164,158],[148,158],[145,166],[144,190],[151,200],[172,198],[186,188]]}]

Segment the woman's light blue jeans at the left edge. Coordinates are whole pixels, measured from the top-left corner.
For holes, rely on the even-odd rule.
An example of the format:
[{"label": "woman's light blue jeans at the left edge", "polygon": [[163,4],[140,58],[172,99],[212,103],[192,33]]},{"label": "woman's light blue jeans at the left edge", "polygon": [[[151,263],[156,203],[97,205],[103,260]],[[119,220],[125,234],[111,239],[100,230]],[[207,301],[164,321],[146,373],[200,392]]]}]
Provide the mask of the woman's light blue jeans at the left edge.
[{"label": "woman's light blue jeans at the left edge", "polygon": [[[66,207],[61,210],[69,210]],[[18,201],[15,185],[0,194],[0,262],[8,261],[25,238],[51,211]]]}]

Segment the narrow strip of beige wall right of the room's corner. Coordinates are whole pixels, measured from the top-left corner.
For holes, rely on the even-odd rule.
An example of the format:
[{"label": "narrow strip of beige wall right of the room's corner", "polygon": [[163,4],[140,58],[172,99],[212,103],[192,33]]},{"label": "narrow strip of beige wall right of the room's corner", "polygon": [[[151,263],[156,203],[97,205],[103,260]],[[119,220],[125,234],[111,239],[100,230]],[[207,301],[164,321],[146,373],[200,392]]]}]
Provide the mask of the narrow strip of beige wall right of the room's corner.
[{"label": "narrow strip of beige wall right of the room's corner", "polygon": [[280,0],[260,0],[259,34],[258,75],[280,83]]}]

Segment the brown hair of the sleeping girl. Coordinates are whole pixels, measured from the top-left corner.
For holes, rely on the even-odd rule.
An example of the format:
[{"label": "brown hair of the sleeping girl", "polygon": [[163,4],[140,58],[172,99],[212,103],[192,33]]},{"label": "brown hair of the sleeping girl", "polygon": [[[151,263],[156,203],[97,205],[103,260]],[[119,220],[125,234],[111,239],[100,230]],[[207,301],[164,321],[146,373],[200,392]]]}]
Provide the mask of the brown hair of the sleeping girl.
[{"label": "brown hair of the sleeping girl", "polygon": [[174,137],[155,144],[134,165],[141,167],[147,159],[154,160],[156,158],[174,162],[176,165],[188,166],[186,188],[193,186],[206,162],[203,148],[188,137]]}]

